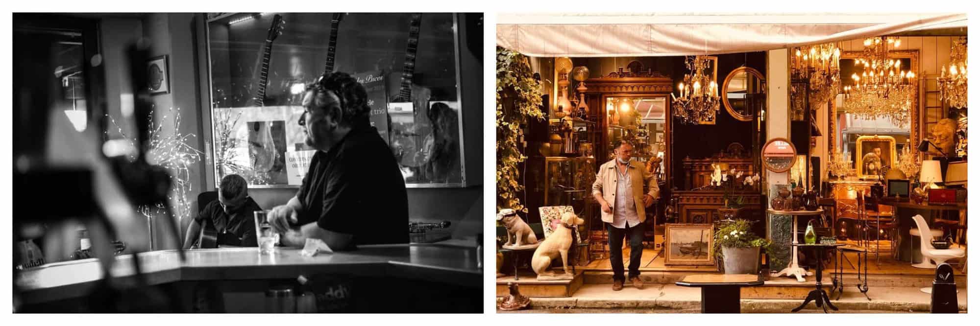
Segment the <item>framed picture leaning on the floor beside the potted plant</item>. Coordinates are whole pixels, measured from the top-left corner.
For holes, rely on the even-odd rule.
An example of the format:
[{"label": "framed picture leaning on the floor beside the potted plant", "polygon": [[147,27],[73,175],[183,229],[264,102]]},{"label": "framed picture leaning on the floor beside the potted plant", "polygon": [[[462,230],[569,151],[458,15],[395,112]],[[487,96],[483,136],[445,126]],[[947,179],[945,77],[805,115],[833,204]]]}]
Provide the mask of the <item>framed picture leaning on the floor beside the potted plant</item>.
[{"label": "framed picture leaning on the floor beside the potted plant", "polygon": [[711,224],[667,223],[663,264],[714,265],[711,246],[714,229]]}]

